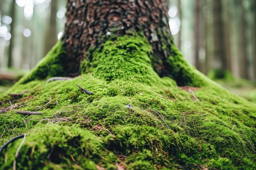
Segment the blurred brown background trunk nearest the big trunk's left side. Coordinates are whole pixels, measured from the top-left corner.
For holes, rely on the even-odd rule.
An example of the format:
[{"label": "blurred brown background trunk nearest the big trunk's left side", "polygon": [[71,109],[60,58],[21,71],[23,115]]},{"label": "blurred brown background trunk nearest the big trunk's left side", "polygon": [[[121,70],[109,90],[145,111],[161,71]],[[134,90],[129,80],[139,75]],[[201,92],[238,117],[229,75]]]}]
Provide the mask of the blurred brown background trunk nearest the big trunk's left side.
[{"label": "blurred brown background trunk nearest the big trunk's left side", "polygon": [[57,0],[51,2],[51,15],[50,15],[50,27],[47,29],[47,36],[45,38],[45,54],[57,42],[57,30],[56,30],[56,13],[57,13]]}]

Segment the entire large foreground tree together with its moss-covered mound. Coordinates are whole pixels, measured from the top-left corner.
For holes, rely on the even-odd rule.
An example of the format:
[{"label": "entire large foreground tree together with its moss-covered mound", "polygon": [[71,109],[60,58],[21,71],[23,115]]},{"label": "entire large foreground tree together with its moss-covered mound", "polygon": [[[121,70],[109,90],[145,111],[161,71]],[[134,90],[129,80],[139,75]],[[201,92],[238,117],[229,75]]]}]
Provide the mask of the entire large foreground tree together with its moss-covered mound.
[{"label": "entire large foreground tree together with its moss-covered mound", "polygon": [[1,144],[27,133],[0,169],[253,169],[256,106],[183,59],[167,7],[68,0],[63,38],[0,95]]}]

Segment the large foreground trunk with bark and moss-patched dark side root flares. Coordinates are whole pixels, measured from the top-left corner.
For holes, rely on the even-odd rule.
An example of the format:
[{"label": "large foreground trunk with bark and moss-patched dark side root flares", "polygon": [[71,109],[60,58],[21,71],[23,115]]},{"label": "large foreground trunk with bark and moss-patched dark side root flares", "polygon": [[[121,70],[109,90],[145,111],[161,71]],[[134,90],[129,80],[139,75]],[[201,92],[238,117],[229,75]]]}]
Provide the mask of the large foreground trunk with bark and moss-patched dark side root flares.
[{"label": "large foreground trunk with bark and moss-patched dark side root flares", "polygon": [[57,54],[57,46],[55,51],[49,53],[61,60],[49,59],[52,64],[39,64],[38,67],[43,68],[34,68],[34,75],[31,72],[22,81],[56,75],[74,77],[92,72],[92,68],[99,65],[96,62],[93,64],[94,52],[101,52],[107,40],[141,35],[152,47],[150,63],[160,77],[172,77],[179,85],[194,84],[195,79],[189,76],[192,68],[173,43],[167,22],[167,7],[165,0],[69,0],[65,31],[61,44],[58,44],[59,52],[63,50],[65,53]]}]

